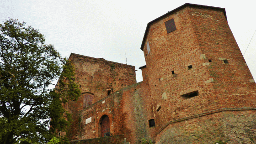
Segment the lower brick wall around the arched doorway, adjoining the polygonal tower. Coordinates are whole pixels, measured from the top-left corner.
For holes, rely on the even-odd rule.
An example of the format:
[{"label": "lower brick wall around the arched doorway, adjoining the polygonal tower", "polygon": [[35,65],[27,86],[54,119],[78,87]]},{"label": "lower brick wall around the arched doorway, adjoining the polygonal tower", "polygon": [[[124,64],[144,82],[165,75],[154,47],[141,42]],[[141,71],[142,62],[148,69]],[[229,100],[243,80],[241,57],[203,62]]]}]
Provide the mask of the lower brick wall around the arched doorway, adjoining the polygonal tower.
[{"label": "lower brick wall around the arched doorway, adjoining the polygonal tower", "polygon": [[[79,120],[67,133],[69,140],[101,137],[100,121],[103,115],[110,119],[110,132],[113,135],[124,134],[131,144],[138,144],[143,138],[156,139],[155,127],[149,128],[148,121],[154,115],[149,87],[145,82],[122,88],[91,107],[80,110],[74,116]],[[90,123],[86,123],[88,118],[91,118]]]}]

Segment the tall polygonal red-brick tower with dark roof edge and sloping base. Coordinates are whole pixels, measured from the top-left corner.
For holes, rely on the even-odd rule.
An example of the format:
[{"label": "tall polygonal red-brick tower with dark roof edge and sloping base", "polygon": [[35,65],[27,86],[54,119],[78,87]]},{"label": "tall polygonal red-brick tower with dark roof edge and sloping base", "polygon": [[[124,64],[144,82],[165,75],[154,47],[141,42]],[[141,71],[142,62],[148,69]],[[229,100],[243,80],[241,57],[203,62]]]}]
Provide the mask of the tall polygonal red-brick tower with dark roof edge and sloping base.
[{"label": "tall polygonal red-brick tower with dark roof edge and sloping base", "polygon": [[256,84],[224,8],[185,4],[148,23],[156,143],[256,141]]}]

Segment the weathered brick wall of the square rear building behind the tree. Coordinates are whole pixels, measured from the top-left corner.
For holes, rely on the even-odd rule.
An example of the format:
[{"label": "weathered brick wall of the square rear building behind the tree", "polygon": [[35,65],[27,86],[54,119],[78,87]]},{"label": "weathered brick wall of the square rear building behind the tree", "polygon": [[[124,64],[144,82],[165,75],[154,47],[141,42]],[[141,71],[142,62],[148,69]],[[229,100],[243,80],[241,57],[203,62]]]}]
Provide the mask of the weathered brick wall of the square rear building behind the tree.
[{"label": "weathered brick wall of the square rear building behind the tree", "polygon": [[[71,53],[69,60],[75,65],[76,81],[80,86],[82,95],[77,102],[67,104],[66,109],[72,114],[74,121],[67,132],[67,136],[69,139],[78,139],[83,133],[79,131],[81,126],[79,123],[81,121],[80,113],[84,110],[83,94],[91,94],[92,103],[96,103],[107,97],[108,89],[113,93],[136,83],[135,67],[74,53]],[[87,138],[94,137],[98,137],[98,135],[91,136],[89,134],[87,136]]]}]

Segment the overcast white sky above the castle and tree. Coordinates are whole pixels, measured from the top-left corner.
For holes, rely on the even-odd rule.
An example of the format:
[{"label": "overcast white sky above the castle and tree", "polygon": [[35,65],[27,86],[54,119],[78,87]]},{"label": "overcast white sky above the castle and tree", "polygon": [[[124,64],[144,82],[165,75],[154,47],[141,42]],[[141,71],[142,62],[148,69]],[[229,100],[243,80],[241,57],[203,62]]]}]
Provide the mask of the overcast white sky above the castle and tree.
[{"label": "overcast white sky above the castle and tree", "polygon": [[[256,31],[255,0],[0,0],[0,22],[25,21],[63,57],[77,53],[136,67],[142,81],[141,42],[147,23],[185,3],[226,9],[229,27],[244,54]],[[245,61],[256,80],[256,34]]]}]

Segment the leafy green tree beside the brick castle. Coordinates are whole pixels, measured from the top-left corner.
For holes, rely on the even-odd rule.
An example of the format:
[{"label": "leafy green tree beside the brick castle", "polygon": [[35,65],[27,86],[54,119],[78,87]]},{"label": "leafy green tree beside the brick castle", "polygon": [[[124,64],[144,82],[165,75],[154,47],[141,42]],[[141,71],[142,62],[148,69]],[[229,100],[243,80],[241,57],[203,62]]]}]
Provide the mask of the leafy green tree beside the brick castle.
[{"label": "leafy green tree beside the brick castle", "polygon": [[69,125],[63,105],[79,95],[72,63],[38,30],[13,19],[0,24],[0,144],[47,143]]}]

